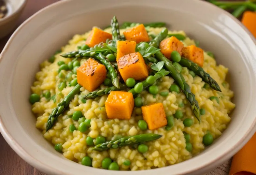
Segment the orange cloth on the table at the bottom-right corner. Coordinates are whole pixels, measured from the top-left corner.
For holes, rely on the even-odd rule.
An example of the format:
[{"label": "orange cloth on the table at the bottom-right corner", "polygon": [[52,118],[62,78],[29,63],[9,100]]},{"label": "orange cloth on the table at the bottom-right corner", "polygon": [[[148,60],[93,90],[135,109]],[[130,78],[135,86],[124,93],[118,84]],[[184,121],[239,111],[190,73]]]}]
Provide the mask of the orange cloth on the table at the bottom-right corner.
[{"label": "orange cloth on the table at the bottom-right corner", "polygon": [[256,174],[256,133],[233,157],[229,175]]}]

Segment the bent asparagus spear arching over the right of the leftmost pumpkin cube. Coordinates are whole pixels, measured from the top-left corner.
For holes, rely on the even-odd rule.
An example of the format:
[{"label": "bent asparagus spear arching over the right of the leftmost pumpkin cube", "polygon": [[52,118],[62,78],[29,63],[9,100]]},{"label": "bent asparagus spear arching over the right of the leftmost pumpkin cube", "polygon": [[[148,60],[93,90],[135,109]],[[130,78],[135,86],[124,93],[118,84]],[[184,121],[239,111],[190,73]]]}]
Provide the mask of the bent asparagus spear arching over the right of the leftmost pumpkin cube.
[{"label": "bent asparagus spear arching over the right of the leftmost pumpkin cube", "polygon": [[119,87],[119,76],[115,68],[112,66],[112,64],[105,58],[105,56],[101,53],[96,54],[96,52],[91,52],[90,50],[77,50],[68,52],[66,54],[61,55],[64,58],[83,58],[83,57],[93,57],[97,60],[99,60],[103,65],[105,65],[106,69],[109,71],[112,84],[117,87]]}]

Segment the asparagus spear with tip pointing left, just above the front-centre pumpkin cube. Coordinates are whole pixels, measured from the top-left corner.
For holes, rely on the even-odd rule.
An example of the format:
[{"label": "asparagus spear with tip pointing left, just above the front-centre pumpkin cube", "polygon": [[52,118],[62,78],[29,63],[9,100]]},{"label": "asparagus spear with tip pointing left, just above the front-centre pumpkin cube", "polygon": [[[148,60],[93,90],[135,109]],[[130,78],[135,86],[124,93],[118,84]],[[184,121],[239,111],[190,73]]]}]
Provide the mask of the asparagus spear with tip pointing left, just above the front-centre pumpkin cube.
[{"label": "asparagus spear with tip pointing left, just above the front-centre pumpkin cube", "polygon": [[112,87],[108,87],[106,89],[101,89],[101,90],[97,90],[97,91],[93,91],[90,92],[88,94],[86,94],[84,97],[82,97],[83,99],[95,99],[96,97],[100,97],[100,96],[104,96],[106,94],[109,94],[111,91],[115,91],[115,90],[124,90],[126,89],[127,86],[124,84],[120,84],[120,88],[117,88],[115,86]]}]

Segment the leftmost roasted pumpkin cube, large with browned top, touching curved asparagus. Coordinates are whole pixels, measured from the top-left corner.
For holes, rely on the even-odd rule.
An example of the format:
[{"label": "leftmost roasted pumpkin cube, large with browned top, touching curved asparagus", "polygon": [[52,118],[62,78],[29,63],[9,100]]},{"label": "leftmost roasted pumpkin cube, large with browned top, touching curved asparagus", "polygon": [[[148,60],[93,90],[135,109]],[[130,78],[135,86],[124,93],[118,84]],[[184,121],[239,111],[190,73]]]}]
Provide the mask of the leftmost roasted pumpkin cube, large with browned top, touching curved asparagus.
[{"label": "leftmost roasted pumpkin cube, large with browned top, touching curved asparagus", "polygon": [[76,70],[77,83],[88,91],[97,89],[106,79],[106,68],[94,59],[89,58]]}]

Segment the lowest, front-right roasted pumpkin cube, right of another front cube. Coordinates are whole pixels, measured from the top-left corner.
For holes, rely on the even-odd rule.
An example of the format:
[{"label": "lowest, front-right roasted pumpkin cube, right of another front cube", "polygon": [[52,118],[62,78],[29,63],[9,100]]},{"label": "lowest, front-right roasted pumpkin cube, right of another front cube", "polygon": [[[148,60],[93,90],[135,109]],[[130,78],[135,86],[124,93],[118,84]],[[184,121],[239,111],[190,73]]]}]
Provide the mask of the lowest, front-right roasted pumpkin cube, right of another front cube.
[{"label": "lowest, front-right roasted pumpkin cube, right of another front cube", "polygon": [[143,119],[147,122],[148,129],[154,130],[167,125],[165,110],[162,103],[142,106]]}]

